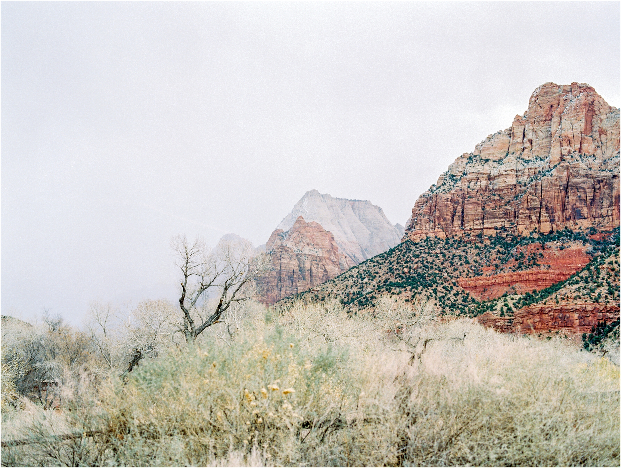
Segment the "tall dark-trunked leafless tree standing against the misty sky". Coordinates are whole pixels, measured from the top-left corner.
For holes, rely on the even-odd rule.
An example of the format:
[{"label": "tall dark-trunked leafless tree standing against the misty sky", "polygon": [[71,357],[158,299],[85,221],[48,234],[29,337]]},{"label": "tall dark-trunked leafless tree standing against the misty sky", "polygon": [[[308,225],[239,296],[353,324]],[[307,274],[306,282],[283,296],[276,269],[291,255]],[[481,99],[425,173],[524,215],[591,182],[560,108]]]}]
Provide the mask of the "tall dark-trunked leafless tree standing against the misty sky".
[{"label": "tall dark-trunked leafless tree standing against the misty sky", "polygon": [[[185,235],[178,235],[171,247],[181,271],[179,306],[187,343],[194,343],[207,327],[219,323],[232,304],[250,299],[253,289],[248,286],[268,269],[265,254],[256,255],[252,244],[244,240],[221,241],[208,253],[201,238],[189,243]],[[207,300],[212,294],[216,300]]]}]

